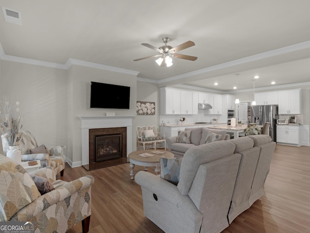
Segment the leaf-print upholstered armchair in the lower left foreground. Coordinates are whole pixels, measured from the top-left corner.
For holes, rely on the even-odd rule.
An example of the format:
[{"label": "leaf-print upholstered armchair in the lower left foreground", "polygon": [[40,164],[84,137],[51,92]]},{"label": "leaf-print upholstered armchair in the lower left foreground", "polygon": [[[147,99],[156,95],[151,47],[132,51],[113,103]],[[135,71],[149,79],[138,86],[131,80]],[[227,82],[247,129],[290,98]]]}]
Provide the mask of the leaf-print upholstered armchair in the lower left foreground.
[{"label": "leaf-print upholstered armchair in the lower left foreground", "polygon": [[[54,189],[41,195],[31,175],[46,178]],[[50,166],[28,173],[0,155],[0,221],[34,222],[35,233],[65,233],[82,221],[87,233],[93,182],[90,175],[72,182],[56,180]]]}]

